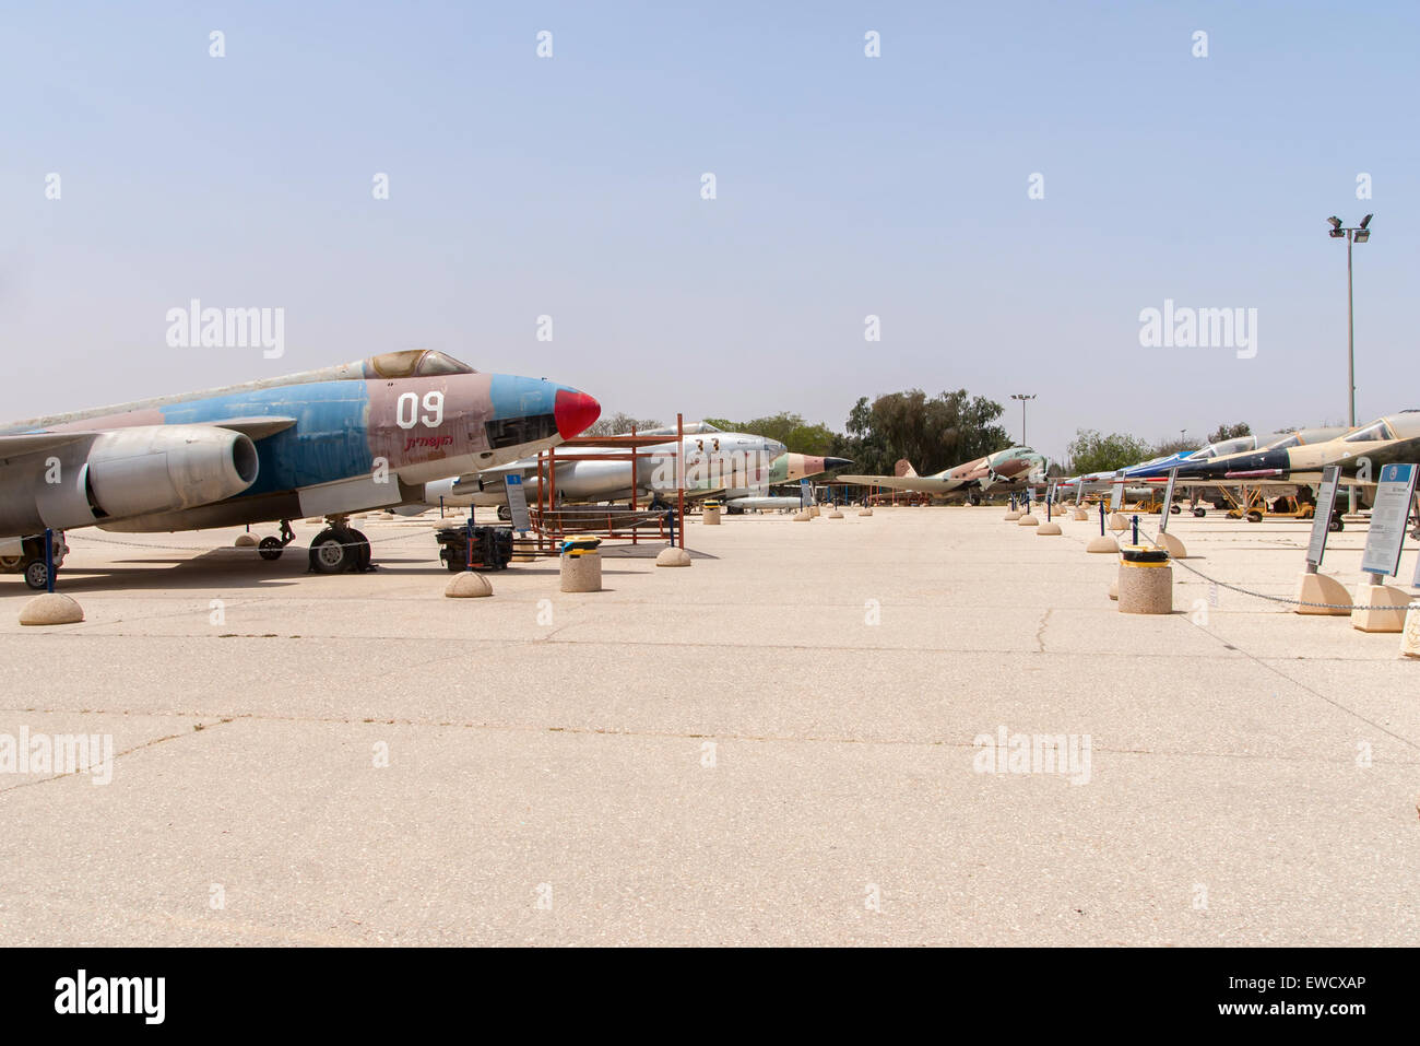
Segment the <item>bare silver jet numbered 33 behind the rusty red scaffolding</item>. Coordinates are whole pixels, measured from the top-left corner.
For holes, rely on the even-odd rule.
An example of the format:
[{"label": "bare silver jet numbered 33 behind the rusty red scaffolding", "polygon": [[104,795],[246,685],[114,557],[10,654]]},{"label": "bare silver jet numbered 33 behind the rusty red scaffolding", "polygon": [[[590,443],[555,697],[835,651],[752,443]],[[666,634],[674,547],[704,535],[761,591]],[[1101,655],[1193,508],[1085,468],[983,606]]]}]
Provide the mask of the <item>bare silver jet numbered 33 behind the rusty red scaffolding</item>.
[{"label": "bare silver jet numbered 33 behind the rusty red scaffolding", "polygon": [[[721,432],[706,422],[686,426],[682,441],[684,455],[686,493],[693,497],[719,495],[723,490],[754,489],[770,482],[775,459],[785,455],[784,443],[765,436],[746,432]],[[655,429],[648,436],[665,435]],[[674,436],[674,431],[672,431]],[[628,497],[632,492],[632,463],[623,458],[625,449],[616,446],[578,446],[575,459],[558,460],[554,466],[552,486],[558,503],[608,502]],[[609,460],[594,460],[601,455],[616,455]],[[518,473],[523,478],[527,497],[537,497],[540,490],[537,458],[523,458],[501,468],[487,468],[460,476],[444,478],[426,483],[423,503],[452,506],[481,506],[507,512],[507,487],[504,478]],[[653,443],[638,451],[636,493],[669,500],[677,492],[676,441]]]}]

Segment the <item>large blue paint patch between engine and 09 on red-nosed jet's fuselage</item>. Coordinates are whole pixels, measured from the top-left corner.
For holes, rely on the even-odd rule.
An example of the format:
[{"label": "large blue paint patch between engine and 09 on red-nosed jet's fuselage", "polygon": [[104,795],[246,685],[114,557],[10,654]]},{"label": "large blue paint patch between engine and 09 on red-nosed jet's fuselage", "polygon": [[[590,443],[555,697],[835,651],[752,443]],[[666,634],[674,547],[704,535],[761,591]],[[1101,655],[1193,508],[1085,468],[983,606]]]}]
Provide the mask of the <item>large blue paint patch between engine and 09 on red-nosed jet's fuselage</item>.
[{"label": "large blue paint patch between engine and 09 on red-nosed jet's fuselage", "polygon": [[369,394],[364,381],[278,385],[172,404],[162,412],[169,425],[230,418],[295,418],[294,426],[256,441],[260,472],[243,497],[331,483],[364,476],[373,469],[368,432]]}]

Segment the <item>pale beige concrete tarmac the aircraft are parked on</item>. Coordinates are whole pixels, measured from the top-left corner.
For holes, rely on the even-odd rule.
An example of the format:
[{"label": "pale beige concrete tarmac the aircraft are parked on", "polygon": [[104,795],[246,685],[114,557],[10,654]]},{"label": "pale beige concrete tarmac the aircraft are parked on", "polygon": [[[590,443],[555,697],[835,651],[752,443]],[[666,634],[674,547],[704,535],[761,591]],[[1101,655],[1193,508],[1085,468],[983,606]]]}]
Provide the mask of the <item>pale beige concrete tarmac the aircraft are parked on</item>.
[{"label": "pale beige concrete tarmac the aircraft are parked on", "polygon": [[[0,944],[1420,944],[1420,662],[1264,598],[1308,526],[1173,517],[1201,576],[1129,617],[1096,519],[1001,516],[692,522],[689,570],[483,600],[427,517],[334,577],[314,524],[75,532],[82,624],[0,576]],[[4,765],[74,733],[108,783]]]}]

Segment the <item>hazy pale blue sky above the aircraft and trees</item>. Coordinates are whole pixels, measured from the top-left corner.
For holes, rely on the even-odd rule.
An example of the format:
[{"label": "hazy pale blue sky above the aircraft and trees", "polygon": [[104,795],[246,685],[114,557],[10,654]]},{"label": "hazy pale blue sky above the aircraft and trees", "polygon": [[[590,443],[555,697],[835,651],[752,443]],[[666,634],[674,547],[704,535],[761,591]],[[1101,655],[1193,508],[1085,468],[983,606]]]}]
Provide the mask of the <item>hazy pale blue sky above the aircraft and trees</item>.
[{"label": "hazy pale blue sky above the aircraft and trees", "polygon": [[[666,421],[1035,392],[1051,456],[1336,422],[1367,212],[1358,416],[1420,406],[1417,55],[1414,3],[6,4],[0,419],[430,347]],[[1255,357],[1142,348],[1166,298]]]}]

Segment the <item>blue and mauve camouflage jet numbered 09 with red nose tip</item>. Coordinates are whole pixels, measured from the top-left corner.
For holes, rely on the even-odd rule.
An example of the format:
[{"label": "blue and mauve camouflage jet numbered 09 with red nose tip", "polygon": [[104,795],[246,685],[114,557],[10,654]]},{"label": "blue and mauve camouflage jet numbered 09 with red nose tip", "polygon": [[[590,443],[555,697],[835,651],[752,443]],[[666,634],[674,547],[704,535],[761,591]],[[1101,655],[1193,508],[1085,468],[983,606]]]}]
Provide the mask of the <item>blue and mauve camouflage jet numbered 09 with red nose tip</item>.
[{"label": "blue and mauve camouflage jet numbered 09 with red nose tip", "polygon": [[[98,526],[172,532],[324,516],[321,573],[369,567],[349,516],[422,500],[425,483],[554,446],[598,402],[540,378],[479,374],[408,350],[244,385],[159,397],[0,429],[0,570],[44,587],[36,534]],[[36,568],[38,563],[38,568]]]}]

